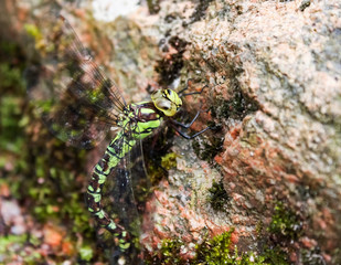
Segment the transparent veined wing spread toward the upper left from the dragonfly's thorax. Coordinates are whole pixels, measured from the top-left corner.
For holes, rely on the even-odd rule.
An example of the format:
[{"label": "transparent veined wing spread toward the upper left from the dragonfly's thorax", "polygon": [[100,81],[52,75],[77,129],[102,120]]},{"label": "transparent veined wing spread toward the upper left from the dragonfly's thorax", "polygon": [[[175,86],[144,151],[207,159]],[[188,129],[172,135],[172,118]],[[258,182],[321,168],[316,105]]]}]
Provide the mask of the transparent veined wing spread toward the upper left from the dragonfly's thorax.
[{"label": "transparent veined wing spread toward the upper left from the dragonfly's thorax", "polygon": [[63,17],[43,35],[41,64],[25,72],[28,94],[55,136],[89,148],[117,125],[126,103]]}]

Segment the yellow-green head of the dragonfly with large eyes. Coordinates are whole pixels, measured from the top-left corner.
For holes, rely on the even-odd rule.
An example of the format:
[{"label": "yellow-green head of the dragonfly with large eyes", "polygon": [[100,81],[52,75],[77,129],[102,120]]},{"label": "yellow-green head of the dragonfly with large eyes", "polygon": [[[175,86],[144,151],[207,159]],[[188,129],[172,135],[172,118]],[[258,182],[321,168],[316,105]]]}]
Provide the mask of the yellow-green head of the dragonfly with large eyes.
[{"label": "yellow-green head of the dragonfly with large eyes", "polygon": [[157,109],[166,116],[173,116],[182,105],[178,93],[172,89],[161,89],[151,94],[151,100]]}]

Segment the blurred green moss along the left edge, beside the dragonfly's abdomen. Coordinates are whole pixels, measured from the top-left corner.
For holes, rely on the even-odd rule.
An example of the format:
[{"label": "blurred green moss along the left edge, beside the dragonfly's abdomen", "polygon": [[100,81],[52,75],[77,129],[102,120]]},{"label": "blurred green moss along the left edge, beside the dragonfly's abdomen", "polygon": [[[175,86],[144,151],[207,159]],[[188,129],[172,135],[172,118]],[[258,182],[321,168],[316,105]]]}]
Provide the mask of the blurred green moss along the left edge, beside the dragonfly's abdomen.
[{"label": "blurred green moss along the left edge, beside the dragonfly's abdomen", "polygon": [[[40,38],[34,26],[25,29]],[[2,225],[0,264],[10,264],[17,256],[28,265],[65,261],[86,264],[84,261],[92,257],[102,262],[103,253],[96,247],[95,230],[89,226],[84,203],[85,151],[55,139],[32,112],[22,82],[25,54],[18,44],[2,41],[4,38],[0,36],[0,182],[9,188],[11,200],[20,204],[34,233],[29,230],[12,235],[10,225]],[[49,104],[43,110],[50,108]],[[45,253],[45,242],[34,234],[42,234],[46,223],[65,231],[70,252],[40,254]]]}]

